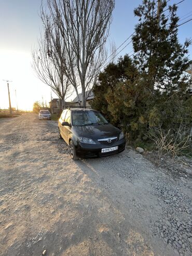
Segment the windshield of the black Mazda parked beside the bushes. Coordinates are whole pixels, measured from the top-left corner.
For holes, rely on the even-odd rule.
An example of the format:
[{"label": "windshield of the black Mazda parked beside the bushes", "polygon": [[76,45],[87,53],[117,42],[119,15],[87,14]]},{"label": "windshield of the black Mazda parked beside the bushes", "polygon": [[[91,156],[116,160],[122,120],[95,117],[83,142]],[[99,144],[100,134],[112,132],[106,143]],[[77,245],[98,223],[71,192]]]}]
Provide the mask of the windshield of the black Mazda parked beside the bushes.
[{"label": "windshield of the black Mazda parked beside the bushes", "polygon": [[74,126],[107,124],[107,120],[97,111],[72,111],[72,124]]}]

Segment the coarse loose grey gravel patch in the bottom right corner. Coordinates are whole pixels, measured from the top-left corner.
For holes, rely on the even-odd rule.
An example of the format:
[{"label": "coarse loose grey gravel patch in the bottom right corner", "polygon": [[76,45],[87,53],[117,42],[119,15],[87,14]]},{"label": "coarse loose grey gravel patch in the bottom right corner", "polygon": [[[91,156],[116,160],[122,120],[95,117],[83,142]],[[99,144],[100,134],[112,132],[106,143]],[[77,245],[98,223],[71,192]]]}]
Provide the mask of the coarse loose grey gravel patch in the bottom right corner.
[{"label": "coarse loose grey gravel patch in the bottom right corner", "polygon": [[155,223],[154,234],[161,236],[180,255],[191,255],[192,222],[190,198],[181,194],[179,188],[164,186],[163,184],[152,186],[155,189],[155,194],[161,198],[159,205],[162,206],[162,215]]}]

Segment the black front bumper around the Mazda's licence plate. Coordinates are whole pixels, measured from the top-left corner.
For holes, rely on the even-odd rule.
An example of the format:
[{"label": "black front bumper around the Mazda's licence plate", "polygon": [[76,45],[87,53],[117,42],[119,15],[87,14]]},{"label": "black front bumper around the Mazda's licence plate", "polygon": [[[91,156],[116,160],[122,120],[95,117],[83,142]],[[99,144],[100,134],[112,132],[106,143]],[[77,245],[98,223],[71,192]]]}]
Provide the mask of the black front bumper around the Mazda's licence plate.
[{"label": "black front bumper around the Mazda's licence plate", "polygon": [[[125,150],[126,140],[125,138],[115,142],[112,145],[102,145],[102,144],[85,144],[85,143],[78,143],[76,146],[76,153],[79,157],[102,157],[102,156],[109,156],[118,154]],[[101,153],[101,149],[106,149],[108,147],[118,146],[118,150]]]}]

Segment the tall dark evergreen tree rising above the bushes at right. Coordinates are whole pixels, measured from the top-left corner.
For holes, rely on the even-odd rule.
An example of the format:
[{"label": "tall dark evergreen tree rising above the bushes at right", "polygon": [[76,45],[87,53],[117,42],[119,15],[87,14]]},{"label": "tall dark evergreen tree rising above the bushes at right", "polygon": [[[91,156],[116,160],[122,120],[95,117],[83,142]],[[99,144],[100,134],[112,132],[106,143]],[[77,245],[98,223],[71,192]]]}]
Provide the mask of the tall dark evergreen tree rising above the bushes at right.
[{"label": "tall dark evergreen tree rising above the bushes at right", "polygon": [[139,17],[132,37],[134,61],[150,90],[183,92],[189,86],[184,71],[190,64],[187,56],[190,41],[186,39],[183,45],[178,41],[177,6],[167,8],[167,1],[163,0],[157,11],[156,4],[154,0],[144,0],[134,10]]}]

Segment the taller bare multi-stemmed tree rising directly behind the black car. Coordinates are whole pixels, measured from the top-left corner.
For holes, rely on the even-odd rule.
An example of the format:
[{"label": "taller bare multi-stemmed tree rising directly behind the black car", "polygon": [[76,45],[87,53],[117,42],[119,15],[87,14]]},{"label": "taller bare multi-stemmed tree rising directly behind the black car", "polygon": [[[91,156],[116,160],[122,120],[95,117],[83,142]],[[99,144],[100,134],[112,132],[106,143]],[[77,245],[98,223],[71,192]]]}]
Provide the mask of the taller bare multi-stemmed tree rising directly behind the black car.
[{"label": "taller bare multi-stemmed tree rising directly behind the black car", "polygon": [[78,85],[81,86],[81,105],[85,106],[86,91],[95,83],[106,60],[104,46],[115,1],[47,0],[47,4],[48,18],[63,39],[65,75],[75,88],[79,104]]}]

